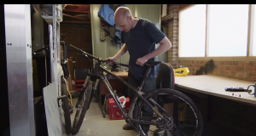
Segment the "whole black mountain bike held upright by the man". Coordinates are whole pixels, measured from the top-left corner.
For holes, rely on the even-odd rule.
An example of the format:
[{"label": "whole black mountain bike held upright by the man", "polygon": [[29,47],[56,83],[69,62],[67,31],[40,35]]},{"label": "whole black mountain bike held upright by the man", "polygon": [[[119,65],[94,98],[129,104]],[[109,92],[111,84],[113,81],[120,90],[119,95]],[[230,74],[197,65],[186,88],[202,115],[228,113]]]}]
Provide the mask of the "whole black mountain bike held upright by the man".
[{"label": "whole black mountain bike held upright by the man", "polygon": [[[101,80],[108,88],[108,91],[112,95],[120,113],[124,116],[125,122],[131,125],[138,135],[201,136],[203,130],[201,112],[198,110],[193,100],[189,99],[187,95],[171,88],[157,88],[148,94],[144,94],[141,91],[144,80],[148,77],[149,71],[151,71],[155,65],[160,65],[163,62],[146,62],[144,65],[147,65],[147,70],[142,76],[142,81],[138,87],[134,87],[129,84],[129,82],[126,82],[124,79],[116,76],[102,66],[102,64],[107,63],[108,60],[88,54],[73,45],[70,46],[78,50],[83,57],[96,60],[94,69],[89,71],[85,78],[83,88],[79,94],[79,99],[75,105],[77,111],[73,121],[73,135],[79,133],[79,129],[84,122],[85,113],[90,108],[90,101],[94,96],[93,94],[96,92],[98,83]],[[129,65],[118,62],[113,62],[113,65],[129,67]],[[113,88],[108,82],[109,75],[119,80],[119,82],[124,83],[127,87],[132,88],[136,93],[135,99],[131,101],[129,111],[125,111],[125,104],[120,102],[119,96],[115,91],[113,91]],[[178,105],[173,112],[168,112],[163,108],[165,103],[175,103]],[[148,105],[154,111],[152,115],[143,115],[142,110],[145,105]],[[185,111],[185,114],[180,114],[179,112],[181,111]],[[143,131],[143,125],[149,125],[148,133]]]}]

